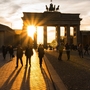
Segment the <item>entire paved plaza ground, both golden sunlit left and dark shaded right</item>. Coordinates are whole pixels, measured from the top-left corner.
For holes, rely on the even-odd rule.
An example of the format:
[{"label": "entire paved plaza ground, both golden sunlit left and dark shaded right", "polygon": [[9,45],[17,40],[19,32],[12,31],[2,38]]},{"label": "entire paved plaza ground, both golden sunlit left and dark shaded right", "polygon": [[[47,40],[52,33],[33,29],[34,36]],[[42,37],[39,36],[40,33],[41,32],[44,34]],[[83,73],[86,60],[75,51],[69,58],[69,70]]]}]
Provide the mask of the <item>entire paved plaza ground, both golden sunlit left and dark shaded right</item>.
[{"label": "entire paved plaza ground, both golden sunlit left and dark shaded right", "polygon": [[70,61],[67,61],[65,52],[62,61],[57,58],[57,51],[46,50],[40,68],[38,54],[34,50],[31,67],[25,67],[23,54],[24,65],[22,67],[19,62],[16,69],[16,56],[10,60],[7,54],[3,60],[0,53],[0,90],[90,90],[89,55],[80,58],[77,51],[71,51]]}]

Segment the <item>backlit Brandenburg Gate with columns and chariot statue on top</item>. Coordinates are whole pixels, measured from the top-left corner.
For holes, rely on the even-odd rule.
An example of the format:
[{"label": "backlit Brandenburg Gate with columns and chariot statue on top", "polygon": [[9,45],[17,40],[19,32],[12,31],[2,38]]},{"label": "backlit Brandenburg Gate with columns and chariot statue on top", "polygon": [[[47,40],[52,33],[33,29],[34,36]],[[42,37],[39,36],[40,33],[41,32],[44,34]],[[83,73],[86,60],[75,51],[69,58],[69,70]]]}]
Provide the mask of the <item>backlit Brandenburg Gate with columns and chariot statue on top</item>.
[{"label": "backlit Brandenburg Gate with columns and chariot statue on top", "polygon": [[[80,14],[71,14],[71,13],[61,13],[58,11],[59,5],[55,7],[55,5],[50,3],[48,7],[46,5],[46,11],[43,13],[33,13],[33,12],[23,12],[23,32],[22,32],[22,40],[26,39],[27,36],[27,26],[35,25],[44,27],[44,47],[47,47],[47,27],[54,26],[56,28],[56,40],[59,43],[61,39],[64,39],[64,42],[68,42],[70,44],[77,45],[81,43],[80,37],[80,21],[82,20],[79,15]],[[64,27],[64,35],[63,38],[60,36],[61,27]],[[73,34],[71,35],[71,27],[73,28]],[[24,35],[23,35],[24,34]],[[23,42],[22,41],[22,42]],[[23,42],[24,43],[24,42]],[[37,45],[37,36],[34,37],[34,44]]]}]

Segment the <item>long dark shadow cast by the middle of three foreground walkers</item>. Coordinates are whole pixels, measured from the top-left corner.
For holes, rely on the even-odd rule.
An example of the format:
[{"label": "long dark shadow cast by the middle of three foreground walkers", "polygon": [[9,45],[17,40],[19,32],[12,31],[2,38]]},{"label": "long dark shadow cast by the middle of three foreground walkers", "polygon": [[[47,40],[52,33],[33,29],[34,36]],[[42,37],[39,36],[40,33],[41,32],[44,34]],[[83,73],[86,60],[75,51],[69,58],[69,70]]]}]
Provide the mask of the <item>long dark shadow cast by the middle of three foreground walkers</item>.
[{"label": "long dark shadow cast by the middle of three foreground walkers", "polygon": [[30,67],[25,68],[20,90],[30,90]]}]

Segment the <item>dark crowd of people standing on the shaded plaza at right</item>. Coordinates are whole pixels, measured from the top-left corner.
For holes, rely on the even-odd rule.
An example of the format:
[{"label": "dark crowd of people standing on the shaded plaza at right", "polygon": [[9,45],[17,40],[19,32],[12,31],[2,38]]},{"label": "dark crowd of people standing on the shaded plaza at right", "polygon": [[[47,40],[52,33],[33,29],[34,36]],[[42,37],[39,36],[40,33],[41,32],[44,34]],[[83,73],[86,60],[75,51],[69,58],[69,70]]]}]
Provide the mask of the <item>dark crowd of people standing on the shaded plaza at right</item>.
[{"label": "dark crowd of people standing on the shaded plaza at right", "polygon": [[89,55],[89,50],[90,50],[90,46],[88,44],[86,44],[85,46],[83,46],[81,43],[78,44],[77,46],[72,44],[68,44],[66,43],[64,45],[63,42],[61,42],[58,46],[57,49],[59,50],[59,56],[58,56],[58,60],[62,60],[62,54],[63,54],[63,49],[65,49],[66,54],[67,54],[67,60],[70,60],[70,51],[71,50],[77,50],[78,51],[78,55],[83,58],[84,55]]}]

